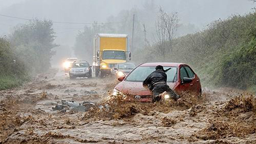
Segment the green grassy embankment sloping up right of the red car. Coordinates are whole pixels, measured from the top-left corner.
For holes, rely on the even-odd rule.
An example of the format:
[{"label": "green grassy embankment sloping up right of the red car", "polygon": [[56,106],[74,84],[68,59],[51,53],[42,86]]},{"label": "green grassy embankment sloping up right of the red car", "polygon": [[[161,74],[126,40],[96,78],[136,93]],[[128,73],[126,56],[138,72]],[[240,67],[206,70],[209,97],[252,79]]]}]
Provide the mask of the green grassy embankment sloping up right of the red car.
[{"label": "green grassy embankment sloping up right of the red car", "polygon": [[204,86],[256,92],[256,13],[216,20],[175,39],[170,60],[190,64]]}]

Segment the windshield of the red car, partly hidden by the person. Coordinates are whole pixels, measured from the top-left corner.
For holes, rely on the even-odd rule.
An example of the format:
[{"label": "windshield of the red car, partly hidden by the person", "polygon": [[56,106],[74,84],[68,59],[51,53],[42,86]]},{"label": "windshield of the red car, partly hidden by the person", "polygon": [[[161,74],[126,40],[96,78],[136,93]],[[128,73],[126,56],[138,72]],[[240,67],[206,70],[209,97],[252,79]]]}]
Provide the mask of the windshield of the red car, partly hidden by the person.
[{"label": "windshield of the red car, partly hidden by the person", "polygon": [[[155,68],[156,68],[155,66],[140,66],[140,67],[137,67],[135,70],[133,70],[127,76],[126,80],[127,81],[133,81],[133,82],[142,82],[147,78],[147,76],[149,74],[154,72]],[[172,69],[170,69],[170,70],[168,70],[168,72],[166,72],[167,82],[176,81],[177,67],[164,66],[165,70],[168,69],[168,68],[172,68]]]}]

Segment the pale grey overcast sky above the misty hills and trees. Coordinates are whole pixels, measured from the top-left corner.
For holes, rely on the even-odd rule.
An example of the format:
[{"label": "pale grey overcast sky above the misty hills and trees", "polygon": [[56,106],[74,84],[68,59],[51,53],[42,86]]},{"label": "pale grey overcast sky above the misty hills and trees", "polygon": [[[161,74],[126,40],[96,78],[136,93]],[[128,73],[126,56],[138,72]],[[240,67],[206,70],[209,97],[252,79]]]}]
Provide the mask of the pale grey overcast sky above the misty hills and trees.
[{"label": "pale grey overcast sky above the misty hills and trees", "polygon": [[[148,0],[151,1],[151,0]],[[178,12],[182,24],[199,29],[219,18],[252,12],[249,0],[153,0],[167,12]],[[0,14],[20,18],[46,18],[61,22],[105,22],[122,10],[143,8],[145,0],[0,0]],[[13,26],[25,20],[0,16],[0,36],[8,35]],[[54,24],[57,42],[72,46],[84,25]]]}]

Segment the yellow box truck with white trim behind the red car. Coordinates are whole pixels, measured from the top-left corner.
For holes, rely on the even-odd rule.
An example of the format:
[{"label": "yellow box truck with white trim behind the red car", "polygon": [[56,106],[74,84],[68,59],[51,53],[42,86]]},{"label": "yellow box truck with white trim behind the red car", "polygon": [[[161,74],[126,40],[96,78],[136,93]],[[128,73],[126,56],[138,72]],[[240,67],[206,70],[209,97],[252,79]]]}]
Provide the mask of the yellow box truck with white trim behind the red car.
[{"label": "yellow box truck with white trim behind the red car", "polygon": [[93,40],[93,67],[96,77],[111,74],[114,64],[131,60],[127,34],[96,34]]}]

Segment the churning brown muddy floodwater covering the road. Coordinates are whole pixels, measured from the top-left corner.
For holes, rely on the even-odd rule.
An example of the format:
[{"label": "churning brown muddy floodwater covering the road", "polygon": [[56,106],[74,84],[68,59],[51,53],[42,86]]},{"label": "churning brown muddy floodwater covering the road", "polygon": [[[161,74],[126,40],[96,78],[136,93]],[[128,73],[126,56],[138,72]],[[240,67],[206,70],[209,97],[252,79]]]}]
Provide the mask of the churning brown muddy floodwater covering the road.
[{"label": "churning brown muddy floodwater covering the road", "polygon": [[[126,103],[108,97],[111,78],[70,80],[40,74],[21,88],[0,91],[0,144],[253,144],[256,101],[241,90],[204,88],[200,98]],[[63,102],[95,106],[82,112]]]}]

